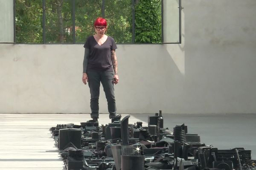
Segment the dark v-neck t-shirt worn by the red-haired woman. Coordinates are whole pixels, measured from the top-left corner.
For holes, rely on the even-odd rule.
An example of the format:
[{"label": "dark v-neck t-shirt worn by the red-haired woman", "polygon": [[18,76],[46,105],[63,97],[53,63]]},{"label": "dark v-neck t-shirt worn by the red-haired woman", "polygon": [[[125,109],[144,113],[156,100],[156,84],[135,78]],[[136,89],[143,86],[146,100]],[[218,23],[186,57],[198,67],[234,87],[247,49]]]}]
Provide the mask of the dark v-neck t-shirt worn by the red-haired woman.
[{"label": "dark v-neck t-shirt worn by the red-haired woman", "polygon": [[99,45],[93,36],[87,38],[84,48],[88,48],[89,58],[87,71],[113,72],[111,51],[117,48],[115,40],[108,36],[107,40]]}]

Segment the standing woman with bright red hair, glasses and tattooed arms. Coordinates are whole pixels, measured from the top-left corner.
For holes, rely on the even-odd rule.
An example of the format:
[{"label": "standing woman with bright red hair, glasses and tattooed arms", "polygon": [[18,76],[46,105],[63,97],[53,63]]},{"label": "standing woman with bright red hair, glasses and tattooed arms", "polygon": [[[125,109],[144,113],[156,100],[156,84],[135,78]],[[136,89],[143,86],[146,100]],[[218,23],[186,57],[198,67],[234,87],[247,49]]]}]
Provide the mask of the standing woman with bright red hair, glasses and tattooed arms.
[{"label": "standing woman with bright red hair, glasses and tattooed arms", "polygon": [[114,85],[119,82],[117,75],[116,42],[105,34],[107,21],[99,17],[94,22],[96,34],[87,38],[84,44],[84,62],[82,81],[90,88],[91,118],[94,122],[99,118],[99,87],[102,83],[108,101],[109,119],[120,120],[116,115]]}]

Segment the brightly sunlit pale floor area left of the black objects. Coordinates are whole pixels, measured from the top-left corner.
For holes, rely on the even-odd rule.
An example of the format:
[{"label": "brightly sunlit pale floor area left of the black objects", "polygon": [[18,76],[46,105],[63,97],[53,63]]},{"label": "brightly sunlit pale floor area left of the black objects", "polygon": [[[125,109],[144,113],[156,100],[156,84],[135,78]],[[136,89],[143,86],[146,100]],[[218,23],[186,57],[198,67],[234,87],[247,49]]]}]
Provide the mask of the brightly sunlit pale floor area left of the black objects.
[{"label": "brightly sunlit pale floor area left of the black objects", "polygon": [[[0,170],[66,170],[49,128],[89,119],[90,114],[0,114]],[[133,115],[129,120],[138,121]],[[108,114],[100,114],[99,124],[109,122]]]}]

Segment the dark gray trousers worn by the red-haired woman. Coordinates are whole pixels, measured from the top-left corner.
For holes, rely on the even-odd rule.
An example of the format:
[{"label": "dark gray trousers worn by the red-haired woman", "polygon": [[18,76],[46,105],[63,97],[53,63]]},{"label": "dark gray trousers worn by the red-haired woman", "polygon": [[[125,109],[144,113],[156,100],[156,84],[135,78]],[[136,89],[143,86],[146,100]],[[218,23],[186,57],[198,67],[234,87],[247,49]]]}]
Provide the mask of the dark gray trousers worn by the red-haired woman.
[{"label": "dark gray trousers worn by the red-haired woman", "polygon": [[108,102],[109,119],[116,116],[116,100],[113,85],[113,72],[87,71],[88,84],[90,88],[91,118],[99,118],[99,87],[102,83]]}]

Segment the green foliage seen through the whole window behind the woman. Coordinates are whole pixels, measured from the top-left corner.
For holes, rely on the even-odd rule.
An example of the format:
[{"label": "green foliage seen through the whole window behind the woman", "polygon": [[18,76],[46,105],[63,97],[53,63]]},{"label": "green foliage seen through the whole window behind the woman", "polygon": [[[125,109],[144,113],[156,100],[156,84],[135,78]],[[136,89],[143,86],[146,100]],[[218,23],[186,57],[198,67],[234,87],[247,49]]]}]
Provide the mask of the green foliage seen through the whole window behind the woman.
[{"label": "green foliage seen through the whole window behind the woman", "polygon": [[[161,42],[160,0],[136,0],[137,43]],[[43,43],[42,0],[15,0],[16,42]],[[76,43],[94,34],[93,23],[102,16],[102,0],[75,0]],[[47,43],[73,43],[72,0],[46,0]],[[105,0],[106,34],[117,43],[132,42],[132,0]]]}]

